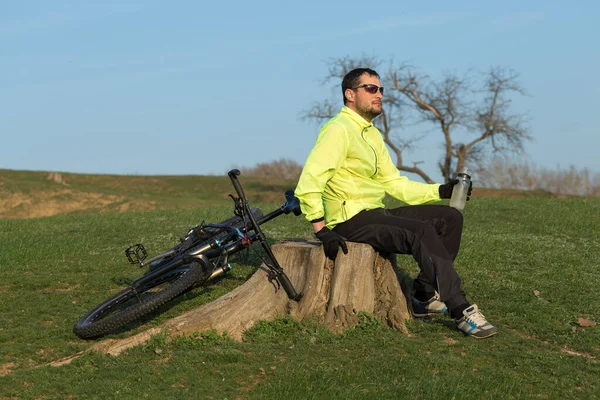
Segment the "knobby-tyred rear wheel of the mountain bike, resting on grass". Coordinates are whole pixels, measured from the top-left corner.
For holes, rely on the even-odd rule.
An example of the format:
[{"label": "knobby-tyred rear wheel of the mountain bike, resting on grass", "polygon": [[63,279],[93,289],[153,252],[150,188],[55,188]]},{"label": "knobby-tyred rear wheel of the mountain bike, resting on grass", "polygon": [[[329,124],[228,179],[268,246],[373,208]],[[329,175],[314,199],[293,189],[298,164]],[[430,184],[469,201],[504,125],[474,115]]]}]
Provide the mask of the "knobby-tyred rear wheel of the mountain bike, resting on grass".
[{"label": "knobby-tyred rear wheel of the mountain bike, resting on grass", "polygon": [[207,277],[202,261],[130,286],[106,299],[77,321],[73,332],[81,339],[98,338],[139,320],[167,302],[192,289]]}]

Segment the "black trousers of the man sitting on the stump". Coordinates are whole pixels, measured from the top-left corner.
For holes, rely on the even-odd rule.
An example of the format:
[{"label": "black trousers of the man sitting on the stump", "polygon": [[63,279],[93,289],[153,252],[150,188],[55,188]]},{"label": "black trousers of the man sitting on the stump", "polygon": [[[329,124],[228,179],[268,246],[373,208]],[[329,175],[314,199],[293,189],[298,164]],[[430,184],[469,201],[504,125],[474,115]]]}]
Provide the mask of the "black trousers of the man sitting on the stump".
[{"label": "black trousers of the man sitting on the stump", "polygon": [[462,214],[454,208],[421,205],[362,211],[333,230],[377,251],[412,254],[421,269],[414,282],[416,293],[431,298],[437,290],[452,310],[469,304],[452,265],[462,226]]}]

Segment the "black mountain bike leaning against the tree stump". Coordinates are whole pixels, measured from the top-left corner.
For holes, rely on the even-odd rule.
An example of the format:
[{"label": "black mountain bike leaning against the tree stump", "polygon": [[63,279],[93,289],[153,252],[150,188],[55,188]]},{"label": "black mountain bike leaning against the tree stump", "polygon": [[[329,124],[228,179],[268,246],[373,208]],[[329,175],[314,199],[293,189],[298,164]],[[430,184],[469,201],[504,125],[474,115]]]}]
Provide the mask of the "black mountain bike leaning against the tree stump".
[{"label": "black mountain bike leaning against the tree stump", "polygon": [[238,179],[240,171],[233,169],[228,176],[237,197],[234,216],[218,224],[191,228],[173,248],[145,261],[148,252],[143,244],[128,247],[125,255],[131,264],[147,267],[147,272],[131,284],[104,300],[77,321],[74,333],[82,339],[92,339],[113,333],[155,311],[183,293],[205,285],[232,269],[229,257],[259,243],[266,258],[268,278],[276,288],[283,287],[291,300],[302,297],[296,292],[283,268],[277,262],[260,225],[282,214],[298,216],[300,204],[293,190],[285,192],[285,202],[263,215],[258,208],[250,208]]}]

